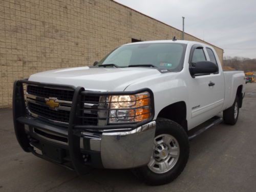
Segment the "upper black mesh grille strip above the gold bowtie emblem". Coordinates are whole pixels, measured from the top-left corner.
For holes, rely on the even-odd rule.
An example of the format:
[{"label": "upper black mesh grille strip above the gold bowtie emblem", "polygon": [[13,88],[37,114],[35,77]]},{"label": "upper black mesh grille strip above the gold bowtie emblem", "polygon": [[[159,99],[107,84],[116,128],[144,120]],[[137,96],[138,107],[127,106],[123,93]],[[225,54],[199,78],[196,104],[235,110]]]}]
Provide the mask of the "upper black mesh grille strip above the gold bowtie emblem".
[{"label": "upper black mesh grille strip above the gold bowtie emblem", "polygon": [[52,89],[38,86],[28,86],[27,92],[31,95],[45,98],[55,97],[58,98],[58,100],[63,101],[72,101],[74,95],[74,91],[71,90]]}]

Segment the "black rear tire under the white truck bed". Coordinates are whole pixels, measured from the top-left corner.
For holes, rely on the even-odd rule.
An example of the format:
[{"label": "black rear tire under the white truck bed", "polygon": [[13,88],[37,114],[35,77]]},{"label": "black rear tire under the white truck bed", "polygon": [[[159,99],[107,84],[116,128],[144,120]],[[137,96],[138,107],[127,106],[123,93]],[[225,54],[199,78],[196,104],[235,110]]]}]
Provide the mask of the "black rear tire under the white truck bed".
[{"label": "black rear tire under the white truck bed", "polygon": [[[234,117],[234,112],[237,104],[237,116]],[[234,103],[230,108],[223,111],[223,120],[226,124],[234,125],[238,121],[239,116],[239,98],[236,96],[236,99],[234,100]]]}]

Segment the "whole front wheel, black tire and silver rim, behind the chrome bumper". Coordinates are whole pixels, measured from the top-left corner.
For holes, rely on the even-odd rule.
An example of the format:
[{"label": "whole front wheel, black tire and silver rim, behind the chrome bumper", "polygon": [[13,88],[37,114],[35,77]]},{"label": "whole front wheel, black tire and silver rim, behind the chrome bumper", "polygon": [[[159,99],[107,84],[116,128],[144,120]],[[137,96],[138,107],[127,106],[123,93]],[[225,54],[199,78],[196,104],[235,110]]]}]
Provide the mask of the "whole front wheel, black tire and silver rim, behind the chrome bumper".
[{"label": "whole front wheel, black tire and silver rim, behind the chrome bumper", "polygon": [[188,137],[181,125],[164,118],[157,119],[156,125],[151,160],[134,170],[139,179],[150,185],[166,184],[176,179],[189,156]]}]

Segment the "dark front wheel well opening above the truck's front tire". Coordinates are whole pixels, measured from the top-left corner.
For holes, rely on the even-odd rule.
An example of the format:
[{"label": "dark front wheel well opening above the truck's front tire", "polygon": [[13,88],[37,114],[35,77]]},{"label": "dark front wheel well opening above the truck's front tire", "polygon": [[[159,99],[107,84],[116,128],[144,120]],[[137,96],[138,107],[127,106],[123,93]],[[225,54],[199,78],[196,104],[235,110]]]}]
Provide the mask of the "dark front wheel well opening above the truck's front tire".
[{"label": "dark front wheel well opening above the truck's front tire", "polygon": [[175,102],[165,106],[157,115],[157,118],[166,118],[179,123],[187,132],[187,108],[184,101]]}]

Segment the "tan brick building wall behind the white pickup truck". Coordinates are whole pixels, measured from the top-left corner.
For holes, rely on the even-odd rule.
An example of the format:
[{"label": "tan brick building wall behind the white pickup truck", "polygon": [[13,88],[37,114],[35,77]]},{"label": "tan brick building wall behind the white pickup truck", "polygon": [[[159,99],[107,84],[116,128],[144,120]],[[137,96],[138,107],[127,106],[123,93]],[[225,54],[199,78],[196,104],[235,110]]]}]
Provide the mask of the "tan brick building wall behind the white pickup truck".
[{"label": "tan brick building wall behind the white pickup truck", "polygon": [[16,79],[92,65],[131,38],[173,36],[181,31],[111,0],[0,0],[0,108],[11,105]]}]

